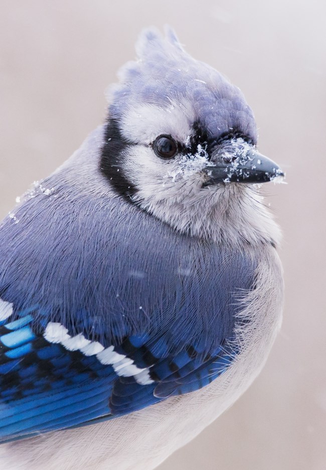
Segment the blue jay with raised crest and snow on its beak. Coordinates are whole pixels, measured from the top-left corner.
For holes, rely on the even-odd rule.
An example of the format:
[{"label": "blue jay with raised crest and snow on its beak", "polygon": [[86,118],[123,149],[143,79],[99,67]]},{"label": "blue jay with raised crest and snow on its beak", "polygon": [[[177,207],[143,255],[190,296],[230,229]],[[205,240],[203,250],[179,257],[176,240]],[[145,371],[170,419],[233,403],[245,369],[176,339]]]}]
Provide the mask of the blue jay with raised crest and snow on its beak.
[{"label": "blue jay with raised crest and snow on its beak", "polygon": [[284,173],[253,111],[170,27],[136,56],[0,226],[2,470],[155,468],[249,387],[281,324],[260,187]]}]

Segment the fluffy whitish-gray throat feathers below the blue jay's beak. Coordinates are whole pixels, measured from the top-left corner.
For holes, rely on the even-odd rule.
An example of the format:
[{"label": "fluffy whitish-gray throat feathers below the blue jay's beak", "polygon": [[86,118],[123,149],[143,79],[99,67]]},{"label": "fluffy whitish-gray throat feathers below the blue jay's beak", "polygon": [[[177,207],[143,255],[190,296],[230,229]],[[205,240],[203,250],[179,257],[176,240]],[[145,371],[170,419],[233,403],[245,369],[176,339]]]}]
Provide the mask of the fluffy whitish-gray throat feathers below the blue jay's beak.
[{"label": "fluffy whitish-gray throat feathers below the blue jay's beak", "polygon": [[281,237],[263,196],[244,185],[225,185],[184,201],[142,200],[140,206],[181,233],[217,243],[276,246]]}]

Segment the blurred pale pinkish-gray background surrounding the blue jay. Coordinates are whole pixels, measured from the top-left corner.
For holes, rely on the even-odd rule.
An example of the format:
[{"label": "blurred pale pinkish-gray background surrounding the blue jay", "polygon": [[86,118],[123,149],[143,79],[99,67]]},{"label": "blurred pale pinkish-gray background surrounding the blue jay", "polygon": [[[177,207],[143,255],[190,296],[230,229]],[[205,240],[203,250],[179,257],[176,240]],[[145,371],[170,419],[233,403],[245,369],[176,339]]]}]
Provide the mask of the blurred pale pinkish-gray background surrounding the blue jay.
[{"label": "blurred pale pinkish-gray background surrounding the blue jay", "polygon": [[103,121],[104,90],[150,25],[242,89],[261,152],[287,172],[265,187],[284,232],[281,333],[248,392],[160,470],[326,468],[325,5],[0,0],[1,216]]}]

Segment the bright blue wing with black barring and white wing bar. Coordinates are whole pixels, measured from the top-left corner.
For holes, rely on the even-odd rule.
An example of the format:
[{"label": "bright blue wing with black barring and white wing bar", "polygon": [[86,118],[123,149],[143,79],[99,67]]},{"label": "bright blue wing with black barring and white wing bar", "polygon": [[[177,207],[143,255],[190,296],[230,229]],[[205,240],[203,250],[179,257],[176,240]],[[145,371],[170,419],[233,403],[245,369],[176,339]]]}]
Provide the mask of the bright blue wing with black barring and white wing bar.
[{"label": "bright blue wing with black barring and white wing bar", "polygon": [[209,356],[186,344],[167,356],[165,339],[148,335],[104,348],[57,323],[35,329],[33,309],[11,321],[11,309],[0,301],[0,441],[110,419],[197,390],[236,354],[226,341]]}]

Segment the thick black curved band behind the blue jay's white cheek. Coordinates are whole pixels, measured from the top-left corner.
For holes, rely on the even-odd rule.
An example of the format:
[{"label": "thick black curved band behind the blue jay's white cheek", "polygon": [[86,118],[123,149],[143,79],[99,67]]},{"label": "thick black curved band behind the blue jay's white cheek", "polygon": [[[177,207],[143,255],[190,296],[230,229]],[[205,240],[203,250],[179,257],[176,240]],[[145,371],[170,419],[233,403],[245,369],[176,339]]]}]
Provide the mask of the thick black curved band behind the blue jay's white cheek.
[{"label": "thick black curved band behind the blue jay's white cheek", "polygon": [[115,119],[108,120],[104,139],[100,161],[101,172],[110,181],[114,190],[131,202],[131,196],[135,194],[136,188],[121,168],[121,153],[128,148],[130,143],[121,135]]}]

